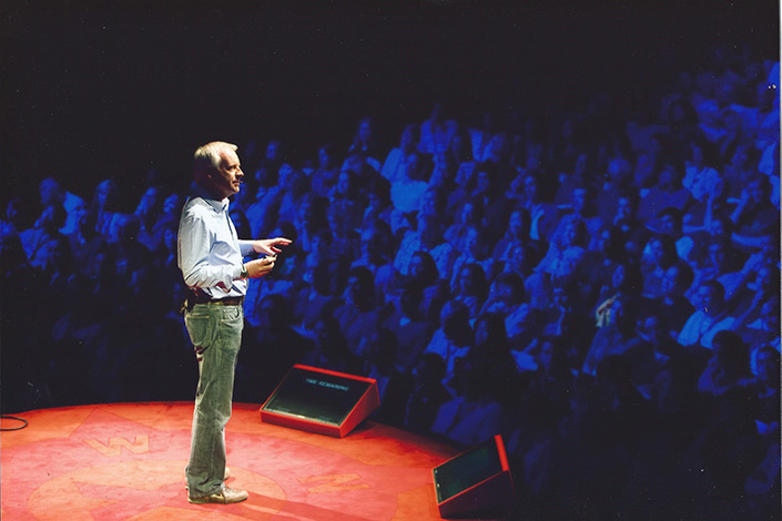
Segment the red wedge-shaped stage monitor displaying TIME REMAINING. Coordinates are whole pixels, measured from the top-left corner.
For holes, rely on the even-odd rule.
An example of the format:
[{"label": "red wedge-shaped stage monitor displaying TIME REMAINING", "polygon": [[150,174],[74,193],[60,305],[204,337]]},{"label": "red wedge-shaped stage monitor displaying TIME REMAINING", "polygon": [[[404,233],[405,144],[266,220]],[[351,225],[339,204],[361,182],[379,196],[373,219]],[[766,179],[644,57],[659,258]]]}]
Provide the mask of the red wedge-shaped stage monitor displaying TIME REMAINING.
[{"label": "red wedge-shaped stage monitor displaying TIME REMAINING", "polygon": [[373,378],[295,365],[261,407],[261,419],[343,438],[379,405]]}]

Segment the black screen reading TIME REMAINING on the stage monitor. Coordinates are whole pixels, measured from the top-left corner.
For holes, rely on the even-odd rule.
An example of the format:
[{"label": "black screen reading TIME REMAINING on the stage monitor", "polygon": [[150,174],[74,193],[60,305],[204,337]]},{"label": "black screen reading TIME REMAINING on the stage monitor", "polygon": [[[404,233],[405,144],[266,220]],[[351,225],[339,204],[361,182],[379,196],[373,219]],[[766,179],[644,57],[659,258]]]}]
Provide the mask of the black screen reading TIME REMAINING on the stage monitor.
[{"label": "black screen reading TIME REMAINING on the stage monitor", "polygon": [[364,380],[294,367],[263,410],[338,426],[370,386]]}]

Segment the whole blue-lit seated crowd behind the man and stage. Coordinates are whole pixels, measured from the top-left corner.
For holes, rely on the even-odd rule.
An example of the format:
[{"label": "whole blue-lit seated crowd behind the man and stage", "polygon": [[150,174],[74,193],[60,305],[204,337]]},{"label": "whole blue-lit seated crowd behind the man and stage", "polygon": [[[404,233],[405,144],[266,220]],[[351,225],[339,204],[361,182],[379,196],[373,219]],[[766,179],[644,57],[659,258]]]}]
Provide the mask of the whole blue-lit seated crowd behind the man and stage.
[{"label": "whole blue-lit seated crowd behind the man and stage", "polygon": [[[360,119],[349,146],[307,131],[306,160],[240,144],[238,236],[294,242],[251,283],[234,399],[263,402],[293,364],[376,378],[374,420],[501,433],[526,519],[769,519],[779,78],[719,49],[642,104],[435,101],[400,129]],[[67,185],[0,223],[3,411],[192,400],[186,192]]]}]

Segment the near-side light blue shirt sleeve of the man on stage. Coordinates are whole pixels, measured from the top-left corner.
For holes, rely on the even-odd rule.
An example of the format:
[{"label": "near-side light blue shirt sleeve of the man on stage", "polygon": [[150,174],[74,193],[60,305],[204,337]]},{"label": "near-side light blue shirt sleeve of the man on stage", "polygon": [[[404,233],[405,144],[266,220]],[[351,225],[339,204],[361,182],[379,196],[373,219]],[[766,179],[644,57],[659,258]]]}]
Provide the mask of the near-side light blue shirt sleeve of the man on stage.
[{"label": "near-side light blue shirt sleeve of the man on stage", "polygon": [[194,214],[182,217],[179,231],[180,268],[189,287],[220,287],[231,290],[232,282],[240,278],[242,266],[213,266],[209,262],[210,245],[216,234],[203,218]]}]

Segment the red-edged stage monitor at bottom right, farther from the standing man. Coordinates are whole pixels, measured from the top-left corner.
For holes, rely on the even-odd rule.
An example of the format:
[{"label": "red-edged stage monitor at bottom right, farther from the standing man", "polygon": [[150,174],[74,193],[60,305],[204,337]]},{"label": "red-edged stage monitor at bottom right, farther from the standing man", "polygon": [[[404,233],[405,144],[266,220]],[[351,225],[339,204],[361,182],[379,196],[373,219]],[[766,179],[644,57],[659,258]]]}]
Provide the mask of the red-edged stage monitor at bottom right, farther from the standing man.
[{"label": "red-edged stage monitor at bottom right, farther from the standing man", "polygon": [[501,514],[515,501],[499,435],[435,467],[433,473],[437,508],[444,518]]}]

